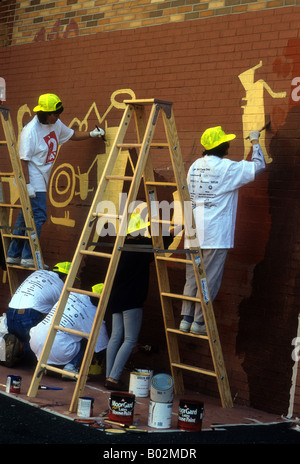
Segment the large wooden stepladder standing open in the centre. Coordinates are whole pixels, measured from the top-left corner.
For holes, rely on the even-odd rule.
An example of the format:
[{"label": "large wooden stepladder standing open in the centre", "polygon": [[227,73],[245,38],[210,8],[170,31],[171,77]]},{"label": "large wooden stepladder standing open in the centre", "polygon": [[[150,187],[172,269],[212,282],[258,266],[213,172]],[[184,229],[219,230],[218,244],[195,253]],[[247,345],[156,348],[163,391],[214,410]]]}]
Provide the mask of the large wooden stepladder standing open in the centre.
[{"label": "large wooden stepladder standing open in the centre", "polygon": [[[175,393],[182,393],[184,391],[183,384],[183,371],[190,371],[191,373],[199,373],[208,375],[216,378],[218,383],[218,389],[222,401],[223,407],[232,407],[232,398],[230,388],[228,384],[227,373],[224,365],[222,349],[214,318],[212,303],[209,298],[209,291],[206,284],[206,274],[202,263],[202,254],[196,238],[196,242],[191,242],[193,246],[190,246],[189,250],[181,250],[190,252],[191,259],[187,261],[184,259],[185,254],[181,254],[180,258],[176,258],[173,255],[179,250],[164,249],[162,226],[165,225],[165,219],[161,219],[160,208],[157,207],[157,195],[159,189],[165,189],[170,187],[175,190],[178,194],[181,211],[184,212],[184,216],[187,218],[184,220],[185,234],[188,237],[195,238],[195,224],[193,214],[191,212],[191,201],[189,192],[186,184],[186,175],[181,158],[181,151],[179,146],[179,140],[177,130],[175,126],[175,120],[173,115],[172,103],[162,100],[149,99],[149,100],[125,100],[124,114],[116,134],[115,140],[112,144],[111,151],[102,174],[102,178],[99,182],[97,191],[95,193],[93,203],[91,205],[87,220],[85,222],[77,249],[75,251],[72,265],[67,276],[64,289],[62,291],[60,300],[57,305],[56,312],[53,317],[51,327],[48,332],[46,342],[44,344],[43,351],[40,359],[36,366],[35,373],[33,375],[31,385],[28,391],[29,397],[34,397],[37,394],[39,383],[44,372],[47,370],[53,370],[55,372],[65,373],[54,366],[47,364],[47,360],[55,339],[55,335],[59,330],[66,330],[59,325],[66,302],[68,300],[70,292],[83,293],[88,295],[97,296],[99,303],[93,322],[93,326],[90,334],[81,334],[83,337],[88,339],[87,347],[85,350],[84,358],[81,364],[81,368],[78,375],[70,374],[70,377],[76,380],[76,386],[74,394],[70,404],[70,412],[74,412],[77,407],[79,396],[83,394],[85,383],[88,375],[88,371],[91,365],[92,357],[94,354],[96,340],[100,331],[101,324],[103,322],[105,311],[107,308],[110,292],[112,289],[115,273],[118,267],[120,255],[122,252],[126,253],[128,250],[127,245],[124,245],[126,238],[127,224],[130,219],[131,212],[130,205],[137,198],[140,186],[145,191],[145,197],[148,207],[149,220],[151,222],[151,237],[153,244],[153,253],[155,256],[155,265],[157,271],[158,287],[161,299],[161,306],[163,312],[163,319],[165,325],[166,341],[168,346],[168,353],[170,359],[171,373],[174,379]],[[130,122],[134,116],[134,130],[130,131]],[[162,121],[163,129],[158,127],[158,120]],[[154,132],[157,130],[159,135],[163,132],[166,137],[165,142],[155,143],[153,141]],[[126,139],[125,139],[126,136]],[[132,142],[132,138],[135,138],[135,142]],[[127,138],[131,139],[127,141]],[[137,141],[136,141],[137,139]],[[168,149],[172,172],[174,173],[175,182],[159,182],[155,179],[155,171],[153,168],[151,154],[152,152],[157,153],[157,148]],[[132,175],[122,176],[122,180],[129,184],[128,193],[126,196],[126,205],[119,214],[109,214],[106,211],[99,209],[105,191],[110,182],[120,181],[120,176],[114,174],[114,165],[120,153],[125,150],[134,150],[136,153],[136,163],[134,166],[131,160]],[[165,166],[165,164],[164,164]],[[118,230],[115,237],[113,237],[112,251],[110,253],[104,253],[101,251],[89,250],[91,243],[90,237],[95,227],[97,220],[114,218],[118,222]],[[171,226],[171,220],[169,225]],[[158,233],[157,233],[158,231]],[[128,250],[129,251],[129,250]],[[108,262],[107,272],[104,280],[104,286],[101,294],[95,295],[94,293],[86,290],[78,289],[74,286],[74,282],[79,271],[82,259],[87,256],[93,256],[94,259],[102,259]],[[173,256],[173,257],[170,257]],[[170,286],[170,279],[168,276],[168,264],[176,263],[185,264],[191,262],[196,275],[196,281],[199,291],[199,298],[188,298],[192,301],[198,301],[202,304],[204,319],[207,328],[207,336],[204,335],[193,335],[185,334],[176,329],[174,309],[172,301],[182,300],[185,297],[182,294],[173,292]],[[178,327],[178,323],[177,323]],[[70,329],[67,329],[70,332]],[[76,332],[78,334],[78,332]],[[211,360],[213,364],[212,370],[198,368],[192,365],[183,364],[180,360],[179,343],[178,337],[193,337],[192,341],[208,341]]]}]

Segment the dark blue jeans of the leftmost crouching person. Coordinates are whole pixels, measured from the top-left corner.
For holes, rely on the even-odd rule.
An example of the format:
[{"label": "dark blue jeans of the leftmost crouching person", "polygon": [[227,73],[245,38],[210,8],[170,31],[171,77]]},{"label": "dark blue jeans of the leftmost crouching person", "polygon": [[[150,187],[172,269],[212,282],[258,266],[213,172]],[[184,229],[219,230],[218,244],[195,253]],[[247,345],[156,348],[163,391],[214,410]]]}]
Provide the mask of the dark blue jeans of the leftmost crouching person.
[{"label": "dark blue jeans of the leftmost crouching person", "polygon": [[25,358],[32,356],[32,351],[29,345],[30,329],[41,322],[44,317],[45,314],[32,308],[26,308],[23,310],[8,308],[6,313],[8,332],[15,335],[22,342]]}]

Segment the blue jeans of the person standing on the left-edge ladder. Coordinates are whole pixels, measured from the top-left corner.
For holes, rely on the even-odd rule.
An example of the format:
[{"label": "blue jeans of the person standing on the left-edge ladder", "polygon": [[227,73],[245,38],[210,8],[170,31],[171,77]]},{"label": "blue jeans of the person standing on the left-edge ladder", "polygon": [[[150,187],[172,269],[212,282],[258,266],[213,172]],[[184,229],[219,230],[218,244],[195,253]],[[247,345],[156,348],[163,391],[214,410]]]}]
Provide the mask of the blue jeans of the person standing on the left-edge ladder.
[{"label": "blue jeans of the person standing on the left-edge ladder", "polygon": [[[47,219],[47,193],[36,192],[36,197],[30,198],[30,203],[37,236],[40,238],[42,225]],[[27,231],[19,230],[18,227],[26,227],[22,211],[20,211],[18,214],[16,223],[14,225],[13,235],[27,235]],[[22,259],[32,259],[29,240],[13,239],[9,246],[7,256],[10,258],[22,257]]]}]

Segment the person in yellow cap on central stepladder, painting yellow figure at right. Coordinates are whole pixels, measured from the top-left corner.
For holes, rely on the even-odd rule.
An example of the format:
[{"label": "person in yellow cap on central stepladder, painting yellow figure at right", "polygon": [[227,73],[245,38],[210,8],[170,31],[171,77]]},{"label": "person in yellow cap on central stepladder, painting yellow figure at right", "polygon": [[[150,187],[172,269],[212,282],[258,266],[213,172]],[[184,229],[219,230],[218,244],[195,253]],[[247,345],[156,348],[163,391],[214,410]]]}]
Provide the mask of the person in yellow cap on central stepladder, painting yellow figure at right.
[{"label": "person in yellow cap on central stepladder, painting yellow figure at right", "polygon": [[[205,149],[203,157],[197,159],[188,171],[187,184],[211,301],[221,286],[228,249],[234,246],[238,189],[254,181],[266,167],[259,136],[259,131],[249,134],[253,145],[251,161],[231,161],[225,156],[228,155],[229,142],[236,136],[225,134],[221,126],[211,127],[201,137]],[[185,248],[189,248],[187,240]],[[193,265],[189,263],[186,264],[183,294],[198,296]],[[184,300],[181,315],[179,330],[206,334],[200,303]]]}]

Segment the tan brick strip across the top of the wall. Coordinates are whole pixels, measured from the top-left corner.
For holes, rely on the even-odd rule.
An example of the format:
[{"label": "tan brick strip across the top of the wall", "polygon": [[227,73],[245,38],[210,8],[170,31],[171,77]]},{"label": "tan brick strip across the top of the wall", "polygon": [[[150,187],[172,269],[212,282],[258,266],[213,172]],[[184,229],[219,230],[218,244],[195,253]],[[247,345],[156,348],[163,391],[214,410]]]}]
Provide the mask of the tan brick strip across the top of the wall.
[{"label": "tan brick strip across the top of the wall", "polygon": [[19,45],[292,5],[298,0],[2,0],[0,43]]}]

